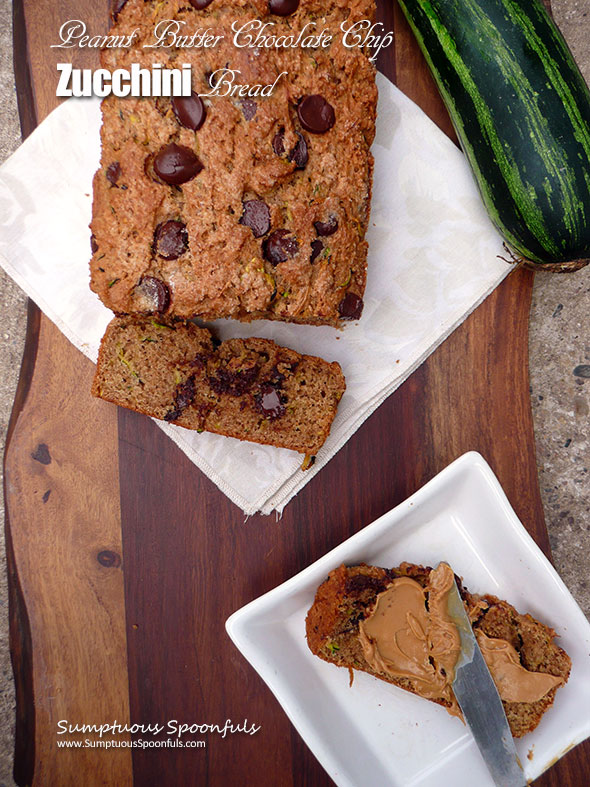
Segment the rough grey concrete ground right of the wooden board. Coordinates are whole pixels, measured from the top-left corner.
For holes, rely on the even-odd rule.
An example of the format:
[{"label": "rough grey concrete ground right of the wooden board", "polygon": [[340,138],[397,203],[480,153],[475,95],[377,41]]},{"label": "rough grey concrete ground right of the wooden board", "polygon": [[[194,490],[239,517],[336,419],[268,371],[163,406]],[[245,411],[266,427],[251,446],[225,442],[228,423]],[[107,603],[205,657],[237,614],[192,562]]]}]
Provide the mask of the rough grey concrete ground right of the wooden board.
[{"label": "rough grey concrete ground right of the wooden board", "polygon": [[[590,3],[553,0],[555,19],[590,82]],[[590,265],[535,276],[529,356],[539,485],[553,562],[590,615]],[[590,371],[590,370],[589,370]]]}]

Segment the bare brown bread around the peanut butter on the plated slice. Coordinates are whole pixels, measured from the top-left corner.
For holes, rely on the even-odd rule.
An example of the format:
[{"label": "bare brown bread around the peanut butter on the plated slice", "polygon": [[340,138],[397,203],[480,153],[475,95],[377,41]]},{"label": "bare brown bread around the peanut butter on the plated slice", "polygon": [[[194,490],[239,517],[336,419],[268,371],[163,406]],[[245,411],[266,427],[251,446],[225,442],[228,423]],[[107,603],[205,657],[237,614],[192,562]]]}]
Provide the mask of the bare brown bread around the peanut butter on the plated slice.
[{"label": "bare brown bread around the peanut butter on the plated slice", "polygon": [[[340,667],[368,672],[407,691],[414,691],[405,678],[393,678],[371,669],[359,641],[359,622],[369,614],[377,596],[400,576],[408,576],[422,587],[428,585],[432,569],[411,563],[384,569],[359,564],[340,566],[330,572],[318,588],[306,617],[307,643],[312,653]],[[466,611],[475,630],[488,637],[504,639],[517,651],[521,665],[531,672],[544,672],[563,679],[569,677],[571,660],[555,644],[555,631],[530,615],[522,615],[495,596],[475,595],[457,583]],[[515,738],[531,732],[553,704],[557,688],[536,702],[504,702],[504,710]],[[449,707],[443,699],[432,700]]]}]

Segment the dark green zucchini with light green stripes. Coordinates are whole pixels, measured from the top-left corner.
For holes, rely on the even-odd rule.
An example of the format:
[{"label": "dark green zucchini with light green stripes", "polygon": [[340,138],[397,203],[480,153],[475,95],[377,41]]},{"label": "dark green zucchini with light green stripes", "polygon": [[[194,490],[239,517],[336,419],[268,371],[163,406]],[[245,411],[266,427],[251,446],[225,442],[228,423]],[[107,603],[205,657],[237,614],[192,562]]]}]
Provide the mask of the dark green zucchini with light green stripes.
[{"label": "dark green zucchini with light green stripes", "polygon": [[541,2],[398,2],[508,244],[590,258],[590,92]]}]

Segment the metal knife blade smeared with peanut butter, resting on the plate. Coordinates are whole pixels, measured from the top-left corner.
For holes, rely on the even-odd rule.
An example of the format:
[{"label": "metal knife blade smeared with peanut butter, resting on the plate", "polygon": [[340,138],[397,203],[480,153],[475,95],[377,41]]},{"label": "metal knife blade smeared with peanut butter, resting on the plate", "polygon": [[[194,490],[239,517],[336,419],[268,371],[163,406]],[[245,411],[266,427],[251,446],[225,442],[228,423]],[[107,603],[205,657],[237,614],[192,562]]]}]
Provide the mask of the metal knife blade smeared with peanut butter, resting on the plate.
[{"label": "metal knife blade smeared with peanut butter, resting on the plate", "polygon": [[494,783],[498,787],[524,787],[527,781],[502,700],[477,644],[454,580],[448,595],[447,610],[461,637],[453,692],[465,721]]}]

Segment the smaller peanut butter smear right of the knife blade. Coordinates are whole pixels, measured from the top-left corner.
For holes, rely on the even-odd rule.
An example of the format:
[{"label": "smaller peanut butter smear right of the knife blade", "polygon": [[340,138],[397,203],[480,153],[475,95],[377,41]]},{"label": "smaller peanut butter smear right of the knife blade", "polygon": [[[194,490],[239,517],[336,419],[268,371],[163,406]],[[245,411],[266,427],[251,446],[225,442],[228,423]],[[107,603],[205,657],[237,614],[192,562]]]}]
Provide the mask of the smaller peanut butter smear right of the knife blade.
[{"label": "smaller peanut butter smear right of the knife blade", "polygon": [[505,702],[537,702],[551,689],[563,685],[563,678],[556,675],[525,669],[518,653],[506,640],[488,637],[483,631],[476,631],[475,636]]}]

